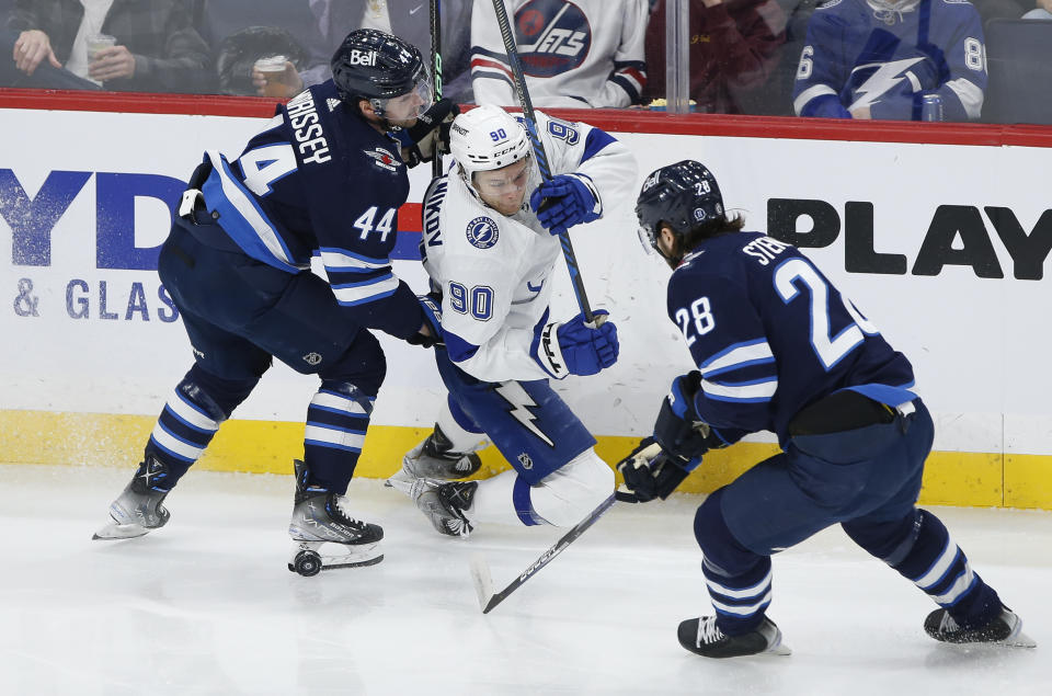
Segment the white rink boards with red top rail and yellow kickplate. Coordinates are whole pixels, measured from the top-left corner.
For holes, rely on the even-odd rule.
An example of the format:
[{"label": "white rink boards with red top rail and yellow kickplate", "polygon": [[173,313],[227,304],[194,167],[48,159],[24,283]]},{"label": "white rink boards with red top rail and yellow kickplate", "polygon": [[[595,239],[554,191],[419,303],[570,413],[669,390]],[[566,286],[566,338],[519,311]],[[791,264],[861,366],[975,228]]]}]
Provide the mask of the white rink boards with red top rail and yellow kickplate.
[{"label": "white rink boards with red top rail and yellow kickplate", "polygon": [[[0,106],[11,104],[0,94]],[[262,100],[230,110],[190,98],[123,98],[132,113],[92,111],[98,104],[49,111],[56,102],[39,99],[0,109],[0,449],[8,461],[138,460],[192,361],[155,271],[170,206],[205,148],[236,156],[271,112]],[[182,115],[203,104],[216,115]],[[146,111],[172,113],[138,113]],[[656,167],[704,161],[747,229],[810,247],[910,357],[937,423],[924,500],[1052,509],[1043,273],[1052,244],[1043,162],[1052,135],[947,124],[658,121],[631,112],[587,117],[636,153],[637,185]],[[411,172],[411,201],[423,194],[425,169]],[[668,272],[643,255],[631,202],[619,209],[606,203],[606,217],[573,237],[592,303],[618,322],[621,358],[556,388],[615,461],[648,431],[670,379],[690,364],[664,315]],[[396,273],[423,290],[413,258],[419,206],[403,209],[400,229]],[[556,316],[570,316],[564,274],[556,290]],[[392,340],[384,345],[388,377],[358,476],[392,472],[444,398],[430,354]],[[290,471],[316,388],[313,378],[275,366],[198,466]],[[774,452],[771,437],[750,438],[712,455],[685,489],[712,490]],[[484,472],[506,466],[492,450],[483,460]]]}]

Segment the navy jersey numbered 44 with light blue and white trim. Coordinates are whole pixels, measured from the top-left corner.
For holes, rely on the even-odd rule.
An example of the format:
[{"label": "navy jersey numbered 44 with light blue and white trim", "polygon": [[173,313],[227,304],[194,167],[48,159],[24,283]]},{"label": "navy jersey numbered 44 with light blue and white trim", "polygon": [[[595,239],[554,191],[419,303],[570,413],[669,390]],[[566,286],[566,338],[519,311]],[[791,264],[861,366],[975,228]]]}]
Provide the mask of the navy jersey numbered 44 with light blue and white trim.
[{"label": "navy jersey numbered 44 with light blue and white trim", "polygon": [[413,335],[423,316],[391,271],[398,209],[409,196],[399,144],[340,101],[329,80],[278,110],[235,161],[217,151],[205,204],[248,255],[288,273],[320,254],[348,318]]}]

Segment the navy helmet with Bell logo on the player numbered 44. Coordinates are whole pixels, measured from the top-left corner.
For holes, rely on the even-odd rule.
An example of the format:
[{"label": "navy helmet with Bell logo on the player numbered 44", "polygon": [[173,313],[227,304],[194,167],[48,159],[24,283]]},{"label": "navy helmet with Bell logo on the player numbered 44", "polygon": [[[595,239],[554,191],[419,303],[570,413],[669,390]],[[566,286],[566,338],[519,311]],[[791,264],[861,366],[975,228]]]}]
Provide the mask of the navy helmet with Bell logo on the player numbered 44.
[{"label": "navy helmet with Bell logo on the player numbered 44", "polygon": [[371,28],[351,32],[330,65],[344,102],[368,100],[384,116],[389,100],[415,91],[424,102],[419,113],[431,106],[431,78],[424,59],[415,46],[398,36]]}]

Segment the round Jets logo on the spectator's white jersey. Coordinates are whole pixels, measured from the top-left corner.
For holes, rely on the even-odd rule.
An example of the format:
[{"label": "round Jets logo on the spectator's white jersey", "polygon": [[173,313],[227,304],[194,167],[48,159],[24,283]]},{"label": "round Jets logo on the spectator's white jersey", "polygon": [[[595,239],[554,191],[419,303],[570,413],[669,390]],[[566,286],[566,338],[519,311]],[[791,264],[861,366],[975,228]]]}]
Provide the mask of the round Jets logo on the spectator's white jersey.
[{"label": "round Jets logo on the spectator's white jersey", "polygon": [[584,62],[592,48],[592,26],[572,2],[529,0],[515,13],[515,43],[523,72],[550,78]]}]

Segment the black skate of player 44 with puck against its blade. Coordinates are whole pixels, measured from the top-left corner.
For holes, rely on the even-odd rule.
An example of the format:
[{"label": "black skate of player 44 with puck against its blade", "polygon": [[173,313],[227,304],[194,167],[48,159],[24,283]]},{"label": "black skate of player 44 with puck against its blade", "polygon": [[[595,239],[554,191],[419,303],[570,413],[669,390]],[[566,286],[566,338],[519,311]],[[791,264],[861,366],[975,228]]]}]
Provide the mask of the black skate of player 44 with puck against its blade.
[{"label": "black skate of player 44 with puck against its blade", "polygon": [[317,575],[331,568],[373,566],[384,560],[379,525],[355,520],[341,506],[341,497],[311,484],[307,465],[298,459],[296,502],[288,535],[297,544],[288,569],[300,575]]}]

